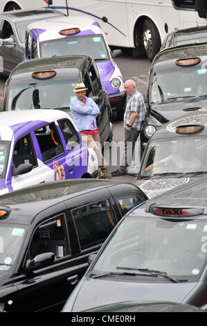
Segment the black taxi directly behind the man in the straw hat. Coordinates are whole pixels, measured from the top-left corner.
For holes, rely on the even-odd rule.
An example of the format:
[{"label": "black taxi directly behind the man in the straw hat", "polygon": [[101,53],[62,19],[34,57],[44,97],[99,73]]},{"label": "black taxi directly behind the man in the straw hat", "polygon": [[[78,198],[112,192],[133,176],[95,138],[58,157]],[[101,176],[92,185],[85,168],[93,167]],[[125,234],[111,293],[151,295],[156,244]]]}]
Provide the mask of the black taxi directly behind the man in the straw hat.
[{"label": "black taxi directly behind the man in the straw hat", "polygon": [[[13,69],[5,86],[3,110],[58,109],[69,112],[75,83],[84,83],[87,96],[100,108],[97,117],[101,144],[111,141],[111,106],[95,61],[88,55],[31,59]],[[70,112],[69,112],[70,113]]]}]

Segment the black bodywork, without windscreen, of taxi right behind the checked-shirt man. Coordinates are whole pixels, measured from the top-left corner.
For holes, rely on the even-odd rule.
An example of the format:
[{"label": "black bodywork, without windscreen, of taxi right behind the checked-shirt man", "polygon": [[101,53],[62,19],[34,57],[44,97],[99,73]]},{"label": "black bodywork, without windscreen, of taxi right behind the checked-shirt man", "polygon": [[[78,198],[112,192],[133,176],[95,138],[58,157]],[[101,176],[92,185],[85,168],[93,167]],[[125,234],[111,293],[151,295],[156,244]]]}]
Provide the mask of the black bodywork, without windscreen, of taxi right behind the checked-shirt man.
[{"label": "black bodywork, without windscreen, of taxi right behind the checked-shirt man", "polygon": [[[207,106],[207,96],[201,96],[201,98],[183,98],[179,101],[168,101],[163,103],[152,103],[152,77],[154,73],[162,71],[169,74],[171,71],[176,71],[176,69],[183,69],[183,67],[177,67],[176,61],[178,59],[184,58],[200,58],[201,62],[197,65],[197,69],[201,69],[207,55],[207,44],[197,44],[192,45],[181,45],[172,46],[171,48],[166,48],[156,54],[150,68],[150,76],[147,86],[147,96],[146,96],[146,107],[147,112],[145,114],[145,125],[152,124],[154,126],[161,126],[163,123],[172,121],[185,112],[196,111],[199,108],[204,108]],[[190,69],[190,67],[185,67],[184,69]],[[193,101],[190,101],[190,99]],[[148,139],[145,137],[143,130],[141,130],[141,155],[145,149],[145,143]]]}]

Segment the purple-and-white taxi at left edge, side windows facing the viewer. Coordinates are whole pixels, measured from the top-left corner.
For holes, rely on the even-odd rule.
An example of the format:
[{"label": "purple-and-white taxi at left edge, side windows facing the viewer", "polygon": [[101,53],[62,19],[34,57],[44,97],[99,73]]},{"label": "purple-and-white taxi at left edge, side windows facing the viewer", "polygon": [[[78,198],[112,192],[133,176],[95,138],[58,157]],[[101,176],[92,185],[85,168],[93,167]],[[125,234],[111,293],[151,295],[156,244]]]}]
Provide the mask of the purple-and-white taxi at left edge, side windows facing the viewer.
[{"label": "purple-and-white taxi at left edge, side windows facing the viewer", "polygon": [[0,195],[55,180],[99,178],[96,153],[60,110],[1,112]]}]

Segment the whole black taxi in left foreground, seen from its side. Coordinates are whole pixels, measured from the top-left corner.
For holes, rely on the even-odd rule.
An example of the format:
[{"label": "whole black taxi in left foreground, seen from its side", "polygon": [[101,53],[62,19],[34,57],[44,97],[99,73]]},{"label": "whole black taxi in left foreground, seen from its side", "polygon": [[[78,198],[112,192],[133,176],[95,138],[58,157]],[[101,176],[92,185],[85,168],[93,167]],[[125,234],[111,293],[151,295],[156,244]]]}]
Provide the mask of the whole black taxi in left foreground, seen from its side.
[{"label": "whole black taxi in left foreground, seen from its side", "polygon": [[127,182],[63,180],[0,198],[0,307],[60,311],[129,208],[146,200]]}]

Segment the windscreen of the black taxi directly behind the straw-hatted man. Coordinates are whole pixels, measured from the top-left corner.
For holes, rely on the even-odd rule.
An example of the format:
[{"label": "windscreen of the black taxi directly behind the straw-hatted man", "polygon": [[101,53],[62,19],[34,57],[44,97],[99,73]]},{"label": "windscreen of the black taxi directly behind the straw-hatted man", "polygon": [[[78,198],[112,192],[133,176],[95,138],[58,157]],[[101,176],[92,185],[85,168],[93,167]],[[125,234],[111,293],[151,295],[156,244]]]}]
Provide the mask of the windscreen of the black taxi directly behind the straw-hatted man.
[{"label": "windscreen of the black taxi directly behind the straw-hatted man", "polygon": [[7,110],[60,109],[69,110],[69,104],[75,97],[74,81],[45,82],[35,79],[36,83],[10,86]]}]

